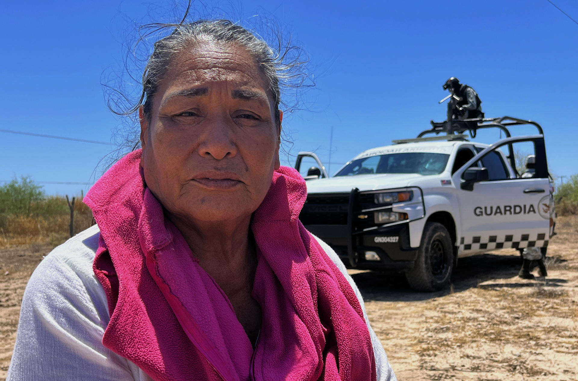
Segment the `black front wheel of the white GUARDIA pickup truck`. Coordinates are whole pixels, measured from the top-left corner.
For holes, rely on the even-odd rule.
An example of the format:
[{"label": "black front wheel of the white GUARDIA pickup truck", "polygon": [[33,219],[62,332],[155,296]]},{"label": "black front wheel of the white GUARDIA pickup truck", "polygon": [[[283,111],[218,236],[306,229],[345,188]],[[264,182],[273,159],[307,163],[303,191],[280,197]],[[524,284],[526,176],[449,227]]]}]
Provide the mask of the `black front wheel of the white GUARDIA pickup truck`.
[{"label": "black front wheel of the white GUARDIA pickup truck", "polygon": [[417,291],[437,291],[450,283],[454,267],[450,234],[440,223],[425,224],[416,264],[406,271],[410,287]]}]

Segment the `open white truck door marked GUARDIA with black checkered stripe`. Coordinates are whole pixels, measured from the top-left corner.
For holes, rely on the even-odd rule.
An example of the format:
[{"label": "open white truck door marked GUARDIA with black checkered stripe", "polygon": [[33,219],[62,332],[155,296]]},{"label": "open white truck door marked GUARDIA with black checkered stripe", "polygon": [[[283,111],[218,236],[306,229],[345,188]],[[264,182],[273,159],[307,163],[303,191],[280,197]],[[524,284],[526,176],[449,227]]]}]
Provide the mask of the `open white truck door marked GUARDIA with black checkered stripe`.
[{"label": "open white truck door marked GUARDIA with black checkered stripe", "polygon": [[[513,143],[531,142],[536,168],[524,178],[506,164]],[[510,156],[500,147],[507,146]],[[452,176],[460,203],[460,256],[512,247],[546,247],[550,239],[553,199],[543,135],[499,140],[466,162]]]}]

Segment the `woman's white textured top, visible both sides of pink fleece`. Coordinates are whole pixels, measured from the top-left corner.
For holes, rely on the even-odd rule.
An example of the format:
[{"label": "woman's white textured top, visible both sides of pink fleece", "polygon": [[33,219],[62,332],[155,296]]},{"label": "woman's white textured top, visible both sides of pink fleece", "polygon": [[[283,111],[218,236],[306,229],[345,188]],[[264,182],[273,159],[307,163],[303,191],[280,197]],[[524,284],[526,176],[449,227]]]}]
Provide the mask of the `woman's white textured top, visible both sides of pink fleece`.
[{"label": "woman's white textured top, visible both sides of pink fleece", "polygon": [[[88,228],[56,247],[32,274],[24,291],[6,381],[151,381],[133,362],[102,344],[110,316],[105,291],[92,271],[98,239],[98,227]],[[317,241],[360,301],[372,339],[377,380],[397,381],[369,326],[360,291],[335,251]]]}]

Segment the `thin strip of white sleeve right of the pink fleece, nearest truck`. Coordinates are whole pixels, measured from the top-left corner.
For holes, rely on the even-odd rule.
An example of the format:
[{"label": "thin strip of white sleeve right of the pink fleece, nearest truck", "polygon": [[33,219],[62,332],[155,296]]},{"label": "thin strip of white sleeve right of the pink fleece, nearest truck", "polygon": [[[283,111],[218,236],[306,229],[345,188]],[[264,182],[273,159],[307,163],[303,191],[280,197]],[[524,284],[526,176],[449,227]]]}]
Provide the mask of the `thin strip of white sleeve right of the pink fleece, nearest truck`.
[{"label": "thin strip of white sleeve right of the pink fleece, nearest truck", "polygon": [[363,316],[365,317],[365,323],[367,324],[367,327],[369,328],[369,334],[371,335],[371,343],[373,345],[373,354],[375,355],[375,367],[376,367],[376,371],[377,371],[377,381],[397,381],[397,378],[395,377],[394,371],[393,371],[393,369],[391,369],[390,362],[387,361],[386,351],[383,349],[383,345],[381,345],[379,338],[377,338],[377,335],[375,334],[375,332],[373,332],[373,329],[371,328],[371,325],[369,324],[369,319],[367,318],[367,313],[365,312],[365,304],[363,301],[363,297],[361,296],[359,288],[357,288],[357,284],[355,284],[355,282],[353,282],[353,278],[351,278],[351,276],[347,273],[347,268],[345,267],[345,265],[343,264],[343,262],[341,261],[341,259],[337,255],[337,253],[335,253],[335,250],[331,249],[331,246],[329,246],[329,245],[327,245],[327,243],[321,241],[321,239],[319,239],[318,237],[314,236],[314,238],[317,239],[317,242],[319,243],[319,245],[321,245],[321,247],[323,247],[323,250],[325,250],[325,253],[327,253],[329,258],[331,258],[331,260],[335,263],[335,265],[343,273],[343,275],[345,276],[345,279],[347,279],[347,282],[349,282],[349,284],[351,285],[351,288],[353,288],[353,291],[355,291],[355,295],[357,295],[357,299],[360,301],[361,308],[363,309]]}]

